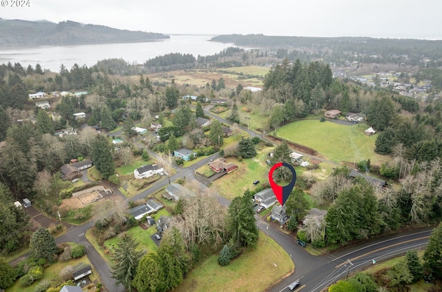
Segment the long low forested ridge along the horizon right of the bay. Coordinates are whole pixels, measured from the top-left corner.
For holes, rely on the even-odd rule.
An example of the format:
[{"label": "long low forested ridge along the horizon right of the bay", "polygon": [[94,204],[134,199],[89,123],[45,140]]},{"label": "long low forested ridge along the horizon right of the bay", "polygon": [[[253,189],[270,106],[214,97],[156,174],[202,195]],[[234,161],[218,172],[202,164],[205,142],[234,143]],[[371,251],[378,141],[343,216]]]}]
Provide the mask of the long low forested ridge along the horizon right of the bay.
[{"label": "long low forested ridge along the horizon right of the bay", "polygon": [[292,48],[306,52],[356,52],[365,55],[419,55],[442,58],[442,40],[375,39],[371,37],[273,37],[267,35],[219,35],[211,41],[236,46]]}]

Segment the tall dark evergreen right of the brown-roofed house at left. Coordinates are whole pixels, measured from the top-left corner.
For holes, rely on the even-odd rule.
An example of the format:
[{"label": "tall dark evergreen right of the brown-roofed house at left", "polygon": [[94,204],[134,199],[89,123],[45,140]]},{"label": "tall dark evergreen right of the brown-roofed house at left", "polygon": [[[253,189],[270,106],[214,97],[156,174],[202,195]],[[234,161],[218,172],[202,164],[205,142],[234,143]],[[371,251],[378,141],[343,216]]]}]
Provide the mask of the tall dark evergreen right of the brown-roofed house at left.
[{"label": "tall dark evergreen right of the brown-roofed house at left", "polygon": [[111,144],[109,144],[108,139],[104,135],[97,135],[92,140],[90,144],[90,157],[104,179],[108,179],[108,177],[115,173]]}]

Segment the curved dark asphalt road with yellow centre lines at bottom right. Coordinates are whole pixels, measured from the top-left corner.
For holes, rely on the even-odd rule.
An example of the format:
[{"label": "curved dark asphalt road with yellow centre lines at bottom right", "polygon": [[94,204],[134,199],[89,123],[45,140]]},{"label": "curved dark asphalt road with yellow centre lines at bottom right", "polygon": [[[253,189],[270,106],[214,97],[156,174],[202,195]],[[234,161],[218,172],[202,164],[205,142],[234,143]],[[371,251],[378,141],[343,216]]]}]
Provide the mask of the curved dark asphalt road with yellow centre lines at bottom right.
[{"label": "curved dark asphalt road with yellow centre lines at bottom right", "polygon": [[[291,245],[283,246],[281,244],[281,246],[287,253],[294,255],[292,258],[296,271],[290,277],[272,286],[268,291],[289,291],[287,286],[298,279],[300,279],[301,286],[296,291],[322,291],[337,280],[346,278],[354,271],[373,265],[373,260],[380,262],[401,255],[410,249],[423,248],[428,243],[431,232],[432,228],[423,228],[407,233],[389,235],[318,257],[309,255],[307,251],[303,251],[300,246],[294,244],[294,240],[291,239]],[[279,237],[284,237],[284,235],[272,235],[272,233],[270,236],[278,243],[281,243]]]}]

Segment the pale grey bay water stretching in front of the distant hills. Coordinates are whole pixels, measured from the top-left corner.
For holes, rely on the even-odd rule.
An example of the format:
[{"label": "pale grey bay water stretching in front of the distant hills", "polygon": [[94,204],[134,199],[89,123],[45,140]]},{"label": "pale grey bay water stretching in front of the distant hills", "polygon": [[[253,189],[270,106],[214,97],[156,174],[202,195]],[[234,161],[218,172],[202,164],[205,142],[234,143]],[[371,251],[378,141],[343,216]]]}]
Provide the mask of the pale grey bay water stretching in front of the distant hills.
[{"label": "pale grey bay water stretching in front of the distant hills", "polygon": [[59,72],[61,64],[70,69],[74,64],[93,66],[99,60],[122,58],[131,64],[143,64],[148,59],[172,52],[207,56],[233,46],[232,43],[209,41],[212,35],[171,35],[164,41],[147,43],[105,43],[79,46],[37,46],[0,50],[0,64],[19,62],[26,69],[28,65],[52,72]]}]

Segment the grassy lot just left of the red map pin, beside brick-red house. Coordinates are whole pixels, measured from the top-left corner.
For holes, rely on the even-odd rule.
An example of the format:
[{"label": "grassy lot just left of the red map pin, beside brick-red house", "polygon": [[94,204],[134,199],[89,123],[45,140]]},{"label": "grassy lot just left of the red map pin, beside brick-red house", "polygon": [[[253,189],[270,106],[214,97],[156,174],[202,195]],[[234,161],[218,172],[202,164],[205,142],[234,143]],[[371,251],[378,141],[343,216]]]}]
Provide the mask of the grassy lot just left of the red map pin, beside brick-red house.
[{"label": "grassy lot just left of the red map pin, beside brick-red house", "polygon": [[[265,160],[267,153],[271,152],[271,149],[268,147],[258,150],[258,155],[253,160],[243,159],[242,162],[239,162],[236,158],[229,158],[228,161],[238,165],[238,169],[215,180],[212,186],[215,186],[223,197],[233,199],[238,197],[238,195],[244,194],[247,188],[250,190],[256,188],[252,184],[254,181],[260,180],[261,184],[262,182],[267,182],[269,180],[267,175],[270,168],[265,163]],[[209,166],[207,167],[209,168]]]}]

